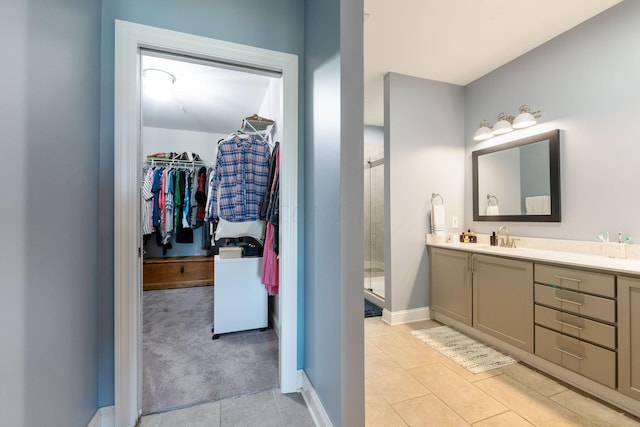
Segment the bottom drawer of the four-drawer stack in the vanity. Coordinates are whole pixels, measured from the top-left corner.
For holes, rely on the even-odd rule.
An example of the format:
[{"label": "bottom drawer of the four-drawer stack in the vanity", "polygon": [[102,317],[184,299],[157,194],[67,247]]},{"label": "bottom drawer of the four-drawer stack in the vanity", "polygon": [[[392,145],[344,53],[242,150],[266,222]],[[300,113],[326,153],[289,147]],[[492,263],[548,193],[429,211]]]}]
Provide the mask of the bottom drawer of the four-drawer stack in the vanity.
[{"label": "bottom drawer of the four-drawer stack in the vanity", "polygon": [[608,387],[616,387],[615,351],[536,326],[535,353]]}]

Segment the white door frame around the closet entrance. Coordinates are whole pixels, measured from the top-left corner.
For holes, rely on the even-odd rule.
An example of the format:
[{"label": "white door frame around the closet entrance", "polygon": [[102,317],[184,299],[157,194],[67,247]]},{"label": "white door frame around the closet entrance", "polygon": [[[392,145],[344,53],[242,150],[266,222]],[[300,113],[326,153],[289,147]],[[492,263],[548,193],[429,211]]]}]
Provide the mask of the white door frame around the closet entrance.
[{"label": "white door frame around the closet entrance", "polygon": [[[282,73],[280,148],[280,388],[300,388],[298,299],[298,57],[207,37],[115,21],[114,347],[115,424],[135,425],[142,408],[140,49],[149,48]],[[133,143],[132,143],[133,142]]]}]

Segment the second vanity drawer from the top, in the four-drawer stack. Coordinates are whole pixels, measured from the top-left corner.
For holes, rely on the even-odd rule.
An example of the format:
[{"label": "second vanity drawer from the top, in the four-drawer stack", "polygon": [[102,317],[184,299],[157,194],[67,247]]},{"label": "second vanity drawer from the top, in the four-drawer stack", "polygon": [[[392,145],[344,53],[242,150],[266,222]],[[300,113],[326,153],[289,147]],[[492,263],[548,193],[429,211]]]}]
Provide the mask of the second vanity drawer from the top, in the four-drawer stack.
[{"label": "second vanity drawer from the top, in the four-drawer stack", "polygon": [[605,322],[616,321],[616,302],[612,299],[536,283],[535,302]]}]

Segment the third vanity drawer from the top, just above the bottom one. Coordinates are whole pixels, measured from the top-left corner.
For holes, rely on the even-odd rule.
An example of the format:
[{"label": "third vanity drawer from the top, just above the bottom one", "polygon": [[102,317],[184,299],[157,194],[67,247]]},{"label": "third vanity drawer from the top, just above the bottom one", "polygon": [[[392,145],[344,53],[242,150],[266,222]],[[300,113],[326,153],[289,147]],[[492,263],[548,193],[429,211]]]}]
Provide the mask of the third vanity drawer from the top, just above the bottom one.
[{"label": "third vanity drawer from the top, just above the bottom one", "polygon": [[611,349],[616,348],[616,328],[611,325],[541,305],[536,305],[535,322],[565,335],[571,335]]}]

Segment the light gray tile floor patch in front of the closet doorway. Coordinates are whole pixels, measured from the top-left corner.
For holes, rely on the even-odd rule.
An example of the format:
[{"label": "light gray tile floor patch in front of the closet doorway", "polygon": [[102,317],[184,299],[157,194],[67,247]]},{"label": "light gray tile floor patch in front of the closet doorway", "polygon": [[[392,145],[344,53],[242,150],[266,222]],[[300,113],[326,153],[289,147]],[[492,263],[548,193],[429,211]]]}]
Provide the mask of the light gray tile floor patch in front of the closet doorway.
[{"label": "light gray tile floor patch in front of the closet doorway", "polygon": [[232,397],[159,414],[146,415],[140,427],[312,427],[299,393],[279,390]]}]

